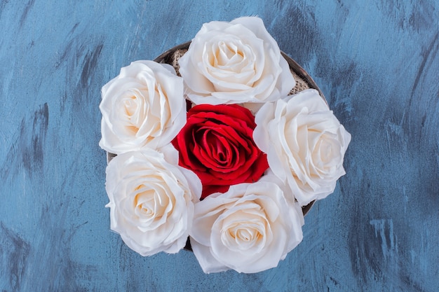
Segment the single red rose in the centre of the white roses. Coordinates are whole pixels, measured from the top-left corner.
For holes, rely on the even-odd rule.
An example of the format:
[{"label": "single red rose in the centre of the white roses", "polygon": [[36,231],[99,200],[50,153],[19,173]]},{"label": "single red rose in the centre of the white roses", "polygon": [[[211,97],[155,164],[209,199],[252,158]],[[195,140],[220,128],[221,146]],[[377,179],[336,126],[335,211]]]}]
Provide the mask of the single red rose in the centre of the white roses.
[{"label": "single red rose in the centre of the white roses", "polygon": [[253,141],[255,127],[252,113],[236,104],[189,109],[173,145],[180,153],[179,165],[201,179],[202,198],[224,193],[237,183],[252,183],[264,174],[269,164]]}]

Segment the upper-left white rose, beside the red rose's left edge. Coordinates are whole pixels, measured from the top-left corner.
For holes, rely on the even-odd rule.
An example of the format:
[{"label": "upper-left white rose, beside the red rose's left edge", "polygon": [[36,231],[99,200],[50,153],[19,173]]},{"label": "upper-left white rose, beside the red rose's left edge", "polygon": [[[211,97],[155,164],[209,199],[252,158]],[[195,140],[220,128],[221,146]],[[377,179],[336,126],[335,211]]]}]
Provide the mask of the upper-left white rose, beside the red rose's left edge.
[{"label": "upper-left white rose, beside the red rose's left edge", "polygon": [[183,80],[168,64],[136,61],[102,87],[101,148],[120,154],[168,144],[186,123]]}]

